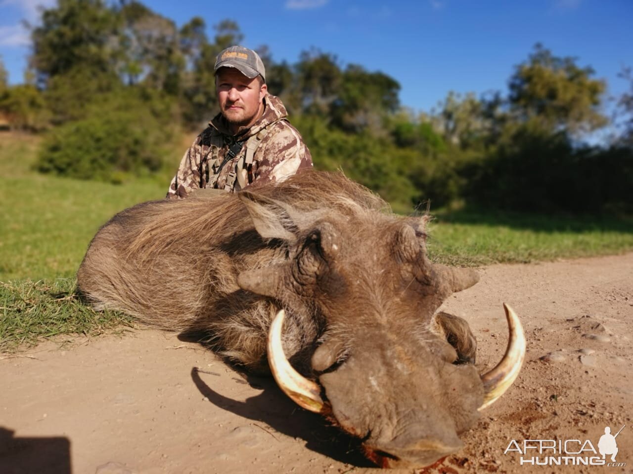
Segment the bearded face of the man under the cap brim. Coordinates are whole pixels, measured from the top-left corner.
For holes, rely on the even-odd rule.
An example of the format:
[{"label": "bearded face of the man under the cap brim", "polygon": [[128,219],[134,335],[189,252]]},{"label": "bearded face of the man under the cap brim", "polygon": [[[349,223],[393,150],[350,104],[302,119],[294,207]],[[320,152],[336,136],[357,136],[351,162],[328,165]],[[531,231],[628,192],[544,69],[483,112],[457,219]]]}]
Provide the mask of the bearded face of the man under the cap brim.
[{"label": "bearded face of the man under the cap brim", "polygon": [[258,78],[249,79],[235,68],[220,68],[215,76],[220,112],[234,131],[250,126],[260,116],[266,95],[266,84]]}]

